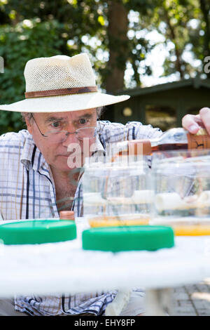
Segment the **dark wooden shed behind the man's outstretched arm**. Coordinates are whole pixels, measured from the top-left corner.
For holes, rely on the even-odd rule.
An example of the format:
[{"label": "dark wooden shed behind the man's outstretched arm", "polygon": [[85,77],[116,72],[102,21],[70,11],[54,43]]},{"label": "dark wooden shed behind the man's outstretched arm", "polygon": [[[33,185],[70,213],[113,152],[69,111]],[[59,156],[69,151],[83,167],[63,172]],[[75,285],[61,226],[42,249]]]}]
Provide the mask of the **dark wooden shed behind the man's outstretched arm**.
[{"label": "dark wooden shed behind the man's outstretched arm", "polygon": [[165,131],[181,126],[184,114],[197,114],[202,107],[210,107],[210,79],[174,81],[145,88],[118,91],[128,94],[130,100],[106,107],[104,120],[125,124],[127,121],[141,121]]}]

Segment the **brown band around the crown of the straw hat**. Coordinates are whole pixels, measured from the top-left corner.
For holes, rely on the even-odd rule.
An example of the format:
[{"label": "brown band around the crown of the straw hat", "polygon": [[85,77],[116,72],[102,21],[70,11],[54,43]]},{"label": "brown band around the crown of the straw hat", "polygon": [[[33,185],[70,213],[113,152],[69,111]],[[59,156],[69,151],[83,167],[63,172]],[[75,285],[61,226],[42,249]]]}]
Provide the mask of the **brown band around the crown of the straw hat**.
[{"label": "brown band around the crown of the straw hat", "polygon": [[49,89],[48,91],[25,92],[25,98],[41,98],[43,96],[71,95],[97,92],[97,86]]}]

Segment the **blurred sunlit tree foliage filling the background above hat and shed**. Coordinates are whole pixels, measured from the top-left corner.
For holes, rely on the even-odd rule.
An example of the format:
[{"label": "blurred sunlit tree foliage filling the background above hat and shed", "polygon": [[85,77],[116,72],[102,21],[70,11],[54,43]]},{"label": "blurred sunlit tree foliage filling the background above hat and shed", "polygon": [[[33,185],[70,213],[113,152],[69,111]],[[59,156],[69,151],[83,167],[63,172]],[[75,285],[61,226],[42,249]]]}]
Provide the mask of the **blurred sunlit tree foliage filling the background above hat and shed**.
[{"label": "blurred sunlit tree foliage filling the background above hat and shed", "polygon": [[[1,103],[21,100],[25,92],[27,60],[62,53],[87,52],[97,84],[109,92],[141,86],[141,76],[152,74],[147,56],[158,44],[146,36],[158,32],[169,53],[163,75],[180,78],[202,72],[209,54],[209,0],[0,0]],[[135,14],[135,19],[130,18]],[[200,65],[186,59],[190,53]],[[0,112],[0,133],[22,127],[18,113]]]}]

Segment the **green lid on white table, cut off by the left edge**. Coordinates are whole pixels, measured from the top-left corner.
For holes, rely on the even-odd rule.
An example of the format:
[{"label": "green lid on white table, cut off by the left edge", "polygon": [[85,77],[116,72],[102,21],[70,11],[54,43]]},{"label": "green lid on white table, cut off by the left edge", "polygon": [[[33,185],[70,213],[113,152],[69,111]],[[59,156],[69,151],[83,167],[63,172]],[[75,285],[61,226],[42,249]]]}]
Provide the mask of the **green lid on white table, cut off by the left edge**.
[{"label": "green lid on white table, cut off by the left edge", "polygon": [[0,225],[4,244],[41,244],[76,238],[75,221],[29,220]]}]

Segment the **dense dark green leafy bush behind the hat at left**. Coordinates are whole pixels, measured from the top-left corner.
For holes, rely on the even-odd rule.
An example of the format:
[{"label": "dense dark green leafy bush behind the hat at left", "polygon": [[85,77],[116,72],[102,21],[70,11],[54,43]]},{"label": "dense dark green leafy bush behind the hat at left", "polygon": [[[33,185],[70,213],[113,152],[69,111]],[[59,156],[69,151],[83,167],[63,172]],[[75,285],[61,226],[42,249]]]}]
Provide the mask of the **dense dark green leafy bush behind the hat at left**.
[{"label": "dense dark green leafy bush behind the hat at left", "polygon": [[[59,39],[60,27],[56,21],[23,21],[15,27],[0,27],[0,56],[4,59],[4,73],[0,74],[1,104],[22,100],[25,93],[23,76],[27,60],[42,56],[58,55],[63,40]],[[0,131],[18,131],[23,127],[17,112],[0,112]]]}]

